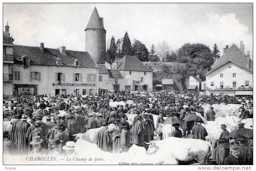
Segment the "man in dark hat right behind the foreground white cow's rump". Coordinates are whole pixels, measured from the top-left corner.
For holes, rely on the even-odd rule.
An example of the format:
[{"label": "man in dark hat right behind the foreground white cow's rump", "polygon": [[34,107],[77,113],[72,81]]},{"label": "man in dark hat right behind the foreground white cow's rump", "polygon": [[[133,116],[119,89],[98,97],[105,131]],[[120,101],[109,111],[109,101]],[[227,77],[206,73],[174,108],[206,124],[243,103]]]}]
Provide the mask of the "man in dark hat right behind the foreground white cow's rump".
[{"label": "man in dark hat right behind the foreground white cow's rump", "polygon": [[219,146],[214,149],[212,159],[216,160],[217,164],[222,165],[228,156],[226,148],[229,146],[229,141],[226,138],[219,138],[217,142],[219,142]]}]

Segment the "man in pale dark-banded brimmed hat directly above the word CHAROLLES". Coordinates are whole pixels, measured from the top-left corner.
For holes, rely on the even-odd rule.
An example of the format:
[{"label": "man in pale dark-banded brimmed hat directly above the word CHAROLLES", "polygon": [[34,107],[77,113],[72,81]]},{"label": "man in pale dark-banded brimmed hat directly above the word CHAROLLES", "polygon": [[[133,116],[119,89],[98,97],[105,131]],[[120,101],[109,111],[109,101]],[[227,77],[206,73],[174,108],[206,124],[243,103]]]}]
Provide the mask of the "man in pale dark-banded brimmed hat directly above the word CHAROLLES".
[{"label": "man in pale dark-banded brimmed hat directly above the word CHAROLLES", "polygon": [[30,155],[46,155],[47,150],[42,147],[43,139],[40,136],[33,136],[32,141],[29,143],[32,145],[33,150],[30,152]]}]

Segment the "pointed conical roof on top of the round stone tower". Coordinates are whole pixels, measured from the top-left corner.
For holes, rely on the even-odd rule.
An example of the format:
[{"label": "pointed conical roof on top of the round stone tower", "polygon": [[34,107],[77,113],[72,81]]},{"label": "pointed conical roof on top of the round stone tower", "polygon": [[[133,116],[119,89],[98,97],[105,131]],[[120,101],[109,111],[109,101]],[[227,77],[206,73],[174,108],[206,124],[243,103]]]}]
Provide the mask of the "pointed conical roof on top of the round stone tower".
[{"label": "pointed conical roof on top of the round stone tower", "polygon": [[105,30],[96,7],[94,7],[94,9],[93,9],[91,18],[90,18],[85,30],[87,30],[87,29],[103,29],[103,30]]}]

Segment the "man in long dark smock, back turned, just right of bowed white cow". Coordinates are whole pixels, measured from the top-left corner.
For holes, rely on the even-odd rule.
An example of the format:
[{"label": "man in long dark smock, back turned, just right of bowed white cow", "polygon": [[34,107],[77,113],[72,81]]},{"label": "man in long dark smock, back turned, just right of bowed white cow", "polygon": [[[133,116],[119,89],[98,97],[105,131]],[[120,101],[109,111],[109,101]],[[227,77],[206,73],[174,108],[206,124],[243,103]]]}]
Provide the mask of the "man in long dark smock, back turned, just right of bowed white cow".
[{"label": "man in long dark smock, back turned, just right of bowed white cow", "polygon": [[102,151],[110,152],[111,146],[112,146],[112,141],[111,141],[109,132],[107,130],[108,123],[103,122],[101,126],[103,126],[103,128],[97,132],[96,144]]}]

